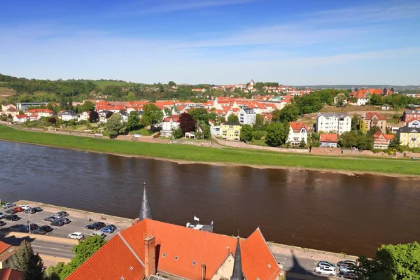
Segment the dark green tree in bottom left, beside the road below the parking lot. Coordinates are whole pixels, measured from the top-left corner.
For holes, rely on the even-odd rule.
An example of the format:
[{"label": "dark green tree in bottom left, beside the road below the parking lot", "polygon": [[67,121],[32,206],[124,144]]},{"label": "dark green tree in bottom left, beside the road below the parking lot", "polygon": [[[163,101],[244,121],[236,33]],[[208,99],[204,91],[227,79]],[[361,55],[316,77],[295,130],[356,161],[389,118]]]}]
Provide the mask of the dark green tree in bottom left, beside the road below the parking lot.
[{"label": "dark green tree in bottom left, beside the road below the parking lot", "polygon": [[23,278],[29,280],[43,279],[43,262],[38,254],[34,254],[31,244],[25,239],[12,257],[11,267],[23,272]]}]

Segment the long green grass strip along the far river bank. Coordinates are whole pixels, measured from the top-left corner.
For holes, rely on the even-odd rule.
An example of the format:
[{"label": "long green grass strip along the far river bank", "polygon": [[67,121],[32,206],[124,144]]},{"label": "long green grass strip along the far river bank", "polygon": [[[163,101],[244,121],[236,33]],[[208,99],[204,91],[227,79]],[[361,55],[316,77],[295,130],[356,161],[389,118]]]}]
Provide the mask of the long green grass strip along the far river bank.
[{"label": "long green grass strip along the far river bank", "polygon": [[420,162],[366,158],[333,158],[316,155],[259,153],[231,148],[205,148],[187,145],[93,139],[70,135],[15,130],[0,125],[0,140],[73,148],[97,153],[160,158],[180,162],[203,162],[253,167],[321,169],[332,172],[378,173],[420,176]]}]

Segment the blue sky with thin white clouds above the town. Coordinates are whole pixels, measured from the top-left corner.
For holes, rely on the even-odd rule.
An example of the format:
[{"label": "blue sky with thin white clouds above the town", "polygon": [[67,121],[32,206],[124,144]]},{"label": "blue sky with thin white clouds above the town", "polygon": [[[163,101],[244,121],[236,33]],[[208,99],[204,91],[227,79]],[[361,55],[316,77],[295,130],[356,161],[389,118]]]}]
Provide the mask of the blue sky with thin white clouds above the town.
[{"label": "blue sky with thin white clouds above the town", "polygon": [[420,1],[3,0],[0,73],[420,84]]}]

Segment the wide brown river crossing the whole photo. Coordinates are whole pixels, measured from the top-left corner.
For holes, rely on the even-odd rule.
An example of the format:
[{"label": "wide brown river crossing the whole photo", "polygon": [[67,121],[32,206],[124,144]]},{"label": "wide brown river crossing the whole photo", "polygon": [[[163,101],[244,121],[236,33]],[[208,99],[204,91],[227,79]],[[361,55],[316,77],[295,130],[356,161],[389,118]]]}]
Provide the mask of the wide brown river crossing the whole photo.
[{"label": "wide brown river crossing the whole photo", "polygon": [[[328,160],[328,159],[325,159]],[[363,160],[360,160],[363,164]],[[153,218],[354,255],[420,239],[420,179],[179,165],[0,141],[0,199],[126,218],[147,183]]]}]

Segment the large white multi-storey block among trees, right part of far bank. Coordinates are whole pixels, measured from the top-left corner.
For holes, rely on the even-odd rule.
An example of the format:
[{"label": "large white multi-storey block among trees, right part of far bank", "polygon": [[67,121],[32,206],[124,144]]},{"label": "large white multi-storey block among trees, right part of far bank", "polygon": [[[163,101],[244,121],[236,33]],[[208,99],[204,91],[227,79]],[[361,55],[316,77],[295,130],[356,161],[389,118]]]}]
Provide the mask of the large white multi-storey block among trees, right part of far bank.
[{"label": "large white multi-storey block among trees, right part of far bank", "polygon": [[316,116],[317,132],[349,132],[351,130],[351,117],[346,113],[318,113]]}]

